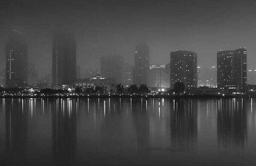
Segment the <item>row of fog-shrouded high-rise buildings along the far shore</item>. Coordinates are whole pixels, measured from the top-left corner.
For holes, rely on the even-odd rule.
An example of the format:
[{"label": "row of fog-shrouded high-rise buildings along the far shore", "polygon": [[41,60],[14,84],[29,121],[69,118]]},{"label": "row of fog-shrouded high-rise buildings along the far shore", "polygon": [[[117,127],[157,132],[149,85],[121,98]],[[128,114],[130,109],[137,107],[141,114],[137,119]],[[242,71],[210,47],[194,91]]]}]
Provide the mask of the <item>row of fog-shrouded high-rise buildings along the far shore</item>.
[{"label": "row of fog-shrouded high-rise buildings along the far shore", "polygon": [[[59,31],[53,36],[52,44],[53,44],[52,45],[53,46],[52,47],[53,49],[52,85],[58,85],[58,86],[73,85],[75,82],[77,82],[77,79],[79,79],[81,75],[80,69],[79,69],[80,67],[76,65],[76,39],[72,34],[68,32]],[[27,47],[27,44],[26,44],[26,41],[23,39],[23,34],[17,31],[12,31],[10,35],[10,39],[7,41],[7,45],[6,45],[6,56],[7,57],[11,56],[11,59],[10,57],[9,57],[10,60],[7,58],[6,64],[9,65],[14,62],[16,63],[19,62],[19,63],[17,64],[15,63],[16,65],[12,64],[12,66],[9,66],[8,68],[6,68],[6,73],[7,73],[6,87],[15,87],[15,86],[24,87],[24,85],[26,84],[34,85],[34,84],[41,83],[41,79],[38,80],[38,72],[35,70],[35,64],[31,64],[31,63],[27,64],[28,50],[26,47]],[[16,57],[15,57],[15,54],[11,54],[13,51],[15,54],[17,54]],[[22,55],[22,56],[19,56],[19,58],[22,58],[25,55],[24,63],[20,63],[22,62],[22,59],[18,61],[16,60],[18,54]],[[102,74],[103,77],[106,77],[108,79],[112,79],[112,80],[114,79],[115,83],[117,84],[121,83],[124,86],[131,85],[132,83],[131,80],[133,80],[133,84],[137,84],[137,85],[145,84],[151,88],[162,87],[162,88],[173,89],[174,83],[177,81],[180,81],[185,84],[186,88],[191,89],[191,88],[197,88],[197,86],[216,87],[215,81],[217,81],[219,89],[224,89],[223,88],[224,86],[225,87],[232,86],[232,88],[236,87],[237,90],[243,89],[245,91],[247,80],[248,80],[246,73],[247,71],[248,72],[252,71],[251,69],[250,70],[247,69],[247,50],[244,48],[236,49],[233,51],[220,50],[219,52],[217,52],[217,62],[218,62],[217,69],[218,70],[215,71],[215,66],[212,66],[212,68],[210,68],[210,70],[212,71],[210,72],[212,73],[212,78],[208,78],[208,79],[202,78],[203,75],[205,75],[205,73],[204,74],[201,73],[200,71],[201,67],[197,65],[197,54],[194,52],[190,52],[190,51],[171,52],[171,63],[167,64],[167,66],[168,65],[170,66],[166,68],[167,70],[165,69],[165,65],[149,66],[150,64],[149,46],[145,42],[138,43],[135,46],[134,54],[135,54],[134,56],[135,66],[132,69],[133,71],[131,69],[128,69],[129,67],[126,69],[126,71],[124,71],[124,67],[125,65],[127,66],[127,63],[124,62],[124,57],[121,55],[101,56],[100,57],[100,74]],[[241,56],[246,54],[245,57],[241,57],[243,59],[242,61],[241,61],[241,58],[238,57],[240,56],[240,54]],[[220,56],[224,56],[223,59],[221,59],[222,57]],[[9,61],[11,63],[9,63]],[[26,65],[24,66],[24,64]],[[160,71],[155,70],[156,68],[162,68],[161,66],[163,66],[163,69],[164,69],[162,71],[162,74],[159,73]],[[11,74],[8,74],[10,73],[9,72],[10,67],[12,67],[13,69],[18,67],[19,69],[17,68],[16,72],[11,72]],[[170,70],[169,68],[171,69],[171,71],[168,71]],[[240,68],[241,68],[241,72],[244,74],[239,75],[240,72],[238,70],[240,70]],[[154,69],[154,70],[151,70],[150,72],[150,69]],[[227,78],[226,78],[226,75],[225,77],[222,76],[223,78],[220,77],[220,74],[223,70],[226,71],[224,72],[224,74],[227,75]],[[20,83],[15,83],[15,84],[12,83],[13,85],[10,85],[9,79],[8,79],[9,75],[10,76],[15,75],[18,73],[18,71],[26,71],[26,72],[23,72],[23,74],[26,75],[27,73],[27,75],[21,78],[23,80],[20,81]],[[153,71],[155,71],[154,74],[153,74]],[[228,72],[230,72],[230,74]],[[132,79],[131,79],[131,73],[133,73]],[[214,78],[215,73],[218,77],[217,80],[215,80]],[[79,76],[77,76],[77,74]],[[125,76],[125,74],[128,74],[128,75]],[[159,76],[159,74],[162,76]],[[22,74],[18,74],[18,75],[20,77],[22,76]],[[161,79],[159,80],[158,77],[161,77],[164,80],[161,80]],[[240,77],[243,80],[243,82],[239,82]],[[220,78],[222,80],[220,80]],[[44,79],[44,83],[49,83],[49,82],[45,82],[46,79],[47,78]],[[124,80],[124,79],[128,79],[128,80]],[[225,79],[226,81],[227,79],[230,79],[230,83],[224,83]],[[253,80],[252,80],[253,76],[250,76],[250,79],[251,79],[250,82],[248,81],[249,84],[253,83]],[[18,80],[15,80],[15,81],[17,82]],[[125,81],[129,81],[130,84],[124,83]],[[170,81],[170,85],[168,81]],[[163,82],[163,84],[161,82]],[[229,84],[229,85],[226,85],[226,84]],[[230,87],[228,87],[228,89],[230,89]]]}]

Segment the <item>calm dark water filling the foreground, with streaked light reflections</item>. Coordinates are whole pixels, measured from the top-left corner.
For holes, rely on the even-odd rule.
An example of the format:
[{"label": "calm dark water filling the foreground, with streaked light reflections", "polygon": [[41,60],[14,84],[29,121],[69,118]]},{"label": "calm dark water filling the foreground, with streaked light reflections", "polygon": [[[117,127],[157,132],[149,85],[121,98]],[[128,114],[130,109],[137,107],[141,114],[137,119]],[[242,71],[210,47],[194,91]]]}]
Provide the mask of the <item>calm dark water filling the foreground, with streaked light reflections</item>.
[{"label": "calm dark water filling the foreground, with streaked light reflections", "polygon": [[0,99],[0,165],[255,166],[256,99]]}]

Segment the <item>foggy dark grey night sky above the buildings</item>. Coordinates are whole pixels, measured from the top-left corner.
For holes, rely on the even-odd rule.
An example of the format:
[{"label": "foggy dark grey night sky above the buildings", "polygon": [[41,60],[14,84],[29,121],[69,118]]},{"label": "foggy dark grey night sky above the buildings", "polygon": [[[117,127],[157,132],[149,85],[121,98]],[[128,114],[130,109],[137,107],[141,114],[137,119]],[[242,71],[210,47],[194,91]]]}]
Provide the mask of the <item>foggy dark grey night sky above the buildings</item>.
[{"label": "foggy dark grey night sky above the buildings", "polygon": [[121,54],[133,65],[135,45],[146,41],[150,64],[166,64],[170,52],[198,54],[198,66],[215,66],[220,49],[246,47],[247,68],[256,68],[256,1],[250,0],[0,0],[0,67],[11,29],[29,43],[29,62],[39,78],[50,73],[53,30],[77,40],[82,75],[99,69],[100,55]]}]

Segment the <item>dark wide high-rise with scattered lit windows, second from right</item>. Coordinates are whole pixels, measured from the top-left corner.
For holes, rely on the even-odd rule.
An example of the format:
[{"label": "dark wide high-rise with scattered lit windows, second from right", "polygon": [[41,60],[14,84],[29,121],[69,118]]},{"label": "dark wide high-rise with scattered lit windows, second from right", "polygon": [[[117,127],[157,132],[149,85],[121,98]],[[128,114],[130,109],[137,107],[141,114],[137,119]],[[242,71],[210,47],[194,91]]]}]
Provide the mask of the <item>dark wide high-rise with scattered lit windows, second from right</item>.
[{"label": "dark wide high-rise with scattered lit windows, second from right", "polygon": [[171,88],[182,82],[187,89],[197,87],[197,54],[190,51],[171,52]]}]

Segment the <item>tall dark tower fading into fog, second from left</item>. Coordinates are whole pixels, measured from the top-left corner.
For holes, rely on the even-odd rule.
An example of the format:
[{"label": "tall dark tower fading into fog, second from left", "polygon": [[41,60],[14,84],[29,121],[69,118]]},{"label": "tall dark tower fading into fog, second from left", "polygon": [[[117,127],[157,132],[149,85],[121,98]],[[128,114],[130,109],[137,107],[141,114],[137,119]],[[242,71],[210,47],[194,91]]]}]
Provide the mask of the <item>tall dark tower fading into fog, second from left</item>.
[{"label": "tall dark tower fading into fog, second from left", "polygon": [[53,36],[53,85],[72,84],[77,77],[76,40],[73,35],[58,32]]}]

